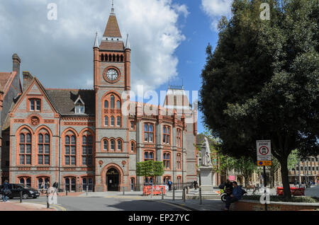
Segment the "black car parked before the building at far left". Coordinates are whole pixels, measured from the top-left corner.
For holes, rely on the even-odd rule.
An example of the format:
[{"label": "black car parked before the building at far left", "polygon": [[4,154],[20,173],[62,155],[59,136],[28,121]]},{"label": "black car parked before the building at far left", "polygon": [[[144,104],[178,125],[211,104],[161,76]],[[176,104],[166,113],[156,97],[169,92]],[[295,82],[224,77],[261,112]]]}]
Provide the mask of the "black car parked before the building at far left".
[{"label": "black car parked before the building at far left", "polygon": [[[40,196],[40,193],[38,190],[35,190],[33,188],[30,188],[27,185],[21,185],[21,184],[9,184],[9,190],[11,190],[11,194],[8,195],[9,199],[13,199],[13,197],[20,198],[20,192],[22,191],[22,197],[24,200],[28,198],[37,198]],[[2,185],[0,186],[0,191],[2,195]]]}]

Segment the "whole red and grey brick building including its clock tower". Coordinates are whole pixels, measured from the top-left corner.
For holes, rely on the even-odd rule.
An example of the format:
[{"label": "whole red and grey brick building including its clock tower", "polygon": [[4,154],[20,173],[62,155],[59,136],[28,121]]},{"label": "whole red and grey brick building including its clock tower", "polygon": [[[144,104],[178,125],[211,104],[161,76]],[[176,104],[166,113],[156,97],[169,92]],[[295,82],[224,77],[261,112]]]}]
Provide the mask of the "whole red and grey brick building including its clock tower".
[{"label": "whole red and grey brick building including its clock tower", "polygon": [[9,166],[2,179],[33,188],[57,182],[69,191],[140,190],[155,180],[136,176],[136,163],[154,160],[164,163],[157,183],[168,178],[175,185],[192,183],[197,124],[186,117],[196,117],[196,111],[177,113],[125,95],[131,50],[113,8],[93,51],[92,90],[45,88],[23,72],[23,91],[8,116],[10,144],[4,158]]}]

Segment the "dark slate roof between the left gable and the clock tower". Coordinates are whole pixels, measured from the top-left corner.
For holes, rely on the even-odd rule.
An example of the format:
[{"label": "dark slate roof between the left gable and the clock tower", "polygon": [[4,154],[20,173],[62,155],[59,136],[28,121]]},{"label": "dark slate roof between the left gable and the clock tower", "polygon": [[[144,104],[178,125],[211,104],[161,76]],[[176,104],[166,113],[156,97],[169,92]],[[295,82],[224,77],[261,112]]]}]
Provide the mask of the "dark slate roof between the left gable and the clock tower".
[{"label": "dark slate roof between the left gable and the clock tower", "polygon": [[[94,90],[47,88],[45,92],[61,115],[95,115]],[[74,111],[74,102],[79,96],[84,101],[84,114],[75,114]]]}]

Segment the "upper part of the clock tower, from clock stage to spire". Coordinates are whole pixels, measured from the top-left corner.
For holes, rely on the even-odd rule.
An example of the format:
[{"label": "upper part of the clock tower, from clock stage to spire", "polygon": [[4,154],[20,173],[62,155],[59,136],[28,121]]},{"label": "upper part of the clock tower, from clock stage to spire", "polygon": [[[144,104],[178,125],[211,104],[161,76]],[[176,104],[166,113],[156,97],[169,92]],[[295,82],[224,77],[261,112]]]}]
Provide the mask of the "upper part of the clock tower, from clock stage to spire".
[{"label": "upper part of the clock tower, from clock stage to spire", "polygon": [[130,44],[124,45],[118,21],[112,8],[101,45],[94,43],[94,89],[130,91]]}]

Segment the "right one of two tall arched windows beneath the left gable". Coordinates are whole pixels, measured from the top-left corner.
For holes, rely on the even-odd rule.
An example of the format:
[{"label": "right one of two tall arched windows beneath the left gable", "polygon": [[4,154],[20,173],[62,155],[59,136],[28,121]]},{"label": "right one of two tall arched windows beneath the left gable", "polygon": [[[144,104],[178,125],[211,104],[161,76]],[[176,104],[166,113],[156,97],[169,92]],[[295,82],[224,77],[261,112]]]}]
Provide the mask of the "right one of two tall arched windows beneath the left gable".
[{"label": "right one of two tall arched windows beneath the left gable", "polygon": [[38,135],[38,165],[50,165],[50,135]]}]

